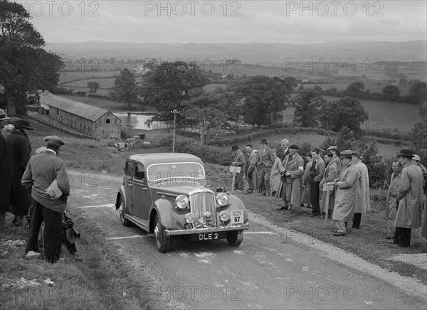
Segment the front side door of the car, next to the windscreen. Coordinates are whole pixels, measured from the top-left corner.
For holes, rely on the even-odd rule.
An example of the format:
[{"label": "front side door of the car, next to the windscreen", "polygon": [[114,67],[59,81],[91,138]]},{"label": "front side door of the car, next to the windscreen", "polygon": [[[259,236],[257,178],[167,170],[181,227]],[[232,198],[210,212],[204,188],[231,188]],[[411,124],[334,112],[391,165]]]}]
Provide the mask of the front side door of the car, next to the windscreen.
[{"label": "front side door of the car, next to the windscreen", "polygon": [[152,205],[144,165],[135,161],[133,165],[132,201],[134,215],[139,218],[148,219],[149,208]]}]

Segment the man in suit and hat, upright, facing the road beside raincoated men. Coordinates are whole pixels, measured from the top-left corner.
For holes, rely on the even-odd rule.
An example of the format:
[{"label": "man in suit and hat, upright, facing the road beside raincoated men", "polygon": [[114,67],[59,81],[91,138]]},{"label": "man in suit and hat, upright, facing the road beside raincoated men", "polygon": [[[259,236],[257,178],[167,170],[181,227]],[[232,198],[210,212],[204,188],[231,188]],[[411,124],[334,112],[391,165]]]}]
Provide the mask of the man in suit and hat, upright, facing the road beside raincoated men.
[{"label": "man in suit and hat, upright, facing the road beside raincoated men", "polygon": [[274,164],[275,156],[273,151],[268,147],[267,140],[262,139],[260,141],[260,149],[258,150],[258,158],[256,165],[260,173],[259,188],[260,193],[258,196],[270,196],[270,173],[271,167]]}]

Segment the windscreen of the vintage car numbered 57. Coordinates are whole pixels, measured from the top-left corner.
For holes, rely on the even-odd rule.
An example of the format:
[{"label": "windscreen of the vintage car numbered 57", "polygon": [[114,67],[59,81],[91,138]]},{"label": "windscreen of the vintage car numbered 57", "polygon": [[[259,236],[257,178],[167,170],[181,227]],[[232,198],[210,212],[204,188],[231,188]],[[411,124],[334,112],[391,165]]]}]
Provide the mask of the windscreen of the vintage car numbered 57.
[{"label": "windscreen of the vintage car numbered 57", "polygon": [[147,168],[148,181],[161,181],[168,179],[204,180],[204,167],[199,163],[162,163],[152,164]]}]

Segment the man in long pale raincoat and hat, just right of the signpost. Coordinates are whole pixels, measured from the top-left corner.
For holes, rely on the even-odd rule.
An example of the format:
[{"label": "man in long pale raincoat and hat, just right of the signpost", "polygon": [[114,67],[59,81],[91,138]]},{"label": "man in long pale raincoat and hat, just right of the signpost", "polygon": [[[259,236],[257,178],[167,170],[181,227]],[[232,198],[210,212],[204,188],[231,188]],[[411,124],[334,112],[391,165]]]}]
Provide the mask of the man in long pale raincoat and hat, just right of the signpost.
[{"label": "man in long pale raincoat and hat, just right of the signpost", "polygon": [[352,220],[356,208],[357,174],[358,169],[352,162],[352,151],[345,150],[341,153],[342,171],[339,180],[335,183],[337,188],[332,220],[335,220],[337,232],[334,236],[347,235],[347,223]]}]

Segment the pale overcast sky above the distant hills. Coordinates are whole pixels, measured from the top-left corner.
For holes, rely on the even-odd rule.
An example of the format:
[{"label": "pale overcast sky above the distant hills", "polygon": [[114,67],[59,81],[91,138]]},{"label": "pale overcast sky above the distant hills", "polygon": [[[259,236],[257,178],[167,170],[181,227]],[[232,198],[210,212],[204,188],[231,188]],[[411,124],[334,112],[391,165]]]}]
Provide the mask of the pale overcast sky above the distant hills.
[{"label": "pale overcast sky above the distant hills", "polygon": [[16,1],[46,42],[327,43],[427,39],[427,1]]}]

